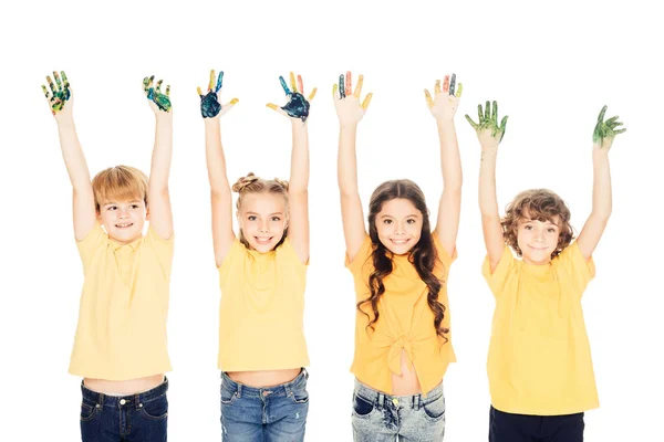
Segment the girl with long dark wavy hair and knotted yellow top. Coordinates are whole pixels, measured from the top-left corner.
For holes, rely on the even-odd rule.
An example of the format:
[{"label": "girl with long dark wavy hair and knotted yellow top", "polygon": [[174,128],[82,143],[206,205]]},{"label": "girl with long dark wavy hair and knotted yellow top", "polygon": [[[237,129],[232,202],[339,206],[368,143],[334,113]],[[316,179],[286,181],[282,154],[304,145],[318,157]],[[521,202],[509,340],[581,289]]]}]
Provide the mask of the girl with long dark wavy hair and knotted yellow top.
[{"label": "girl with long dark wavy hair and knotted yellow top", "polygon": [[355,134],[371,101],[360,104],[363,77],[352,91],[340,76],[334,104],[340,122],[339,189],[346,266],[356,291],[353,438],[355,441],[440,441],[445,433],[443,376],[456,360],[449,332],[447,274],[456,257],[461,164],[454,127],[461,85],[436,82],[425,91],[438,126],[444,191],[432,230],[422,190],[392,180],[374,190],[369,234],[357,191]]}]

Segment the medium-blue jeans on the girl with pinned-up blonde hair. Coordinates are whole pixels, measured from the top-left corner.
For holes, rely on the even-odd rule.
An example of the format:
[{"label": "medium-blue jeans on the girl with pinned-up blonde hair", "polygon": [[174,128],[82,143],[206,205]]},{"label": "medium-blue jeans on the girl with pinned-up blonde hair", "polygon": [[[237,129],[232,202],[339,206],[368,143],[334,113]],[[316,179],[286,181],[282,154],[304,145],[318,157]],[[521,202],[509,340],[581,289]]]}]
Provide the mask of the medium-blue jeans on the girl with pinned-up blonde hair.
[{"label": "medium-blue jeans on the girl with pinned-up blonde hair", "polygon": [[302,369],[290,382],[253,388],[221,373],[224,442],[293,442],[304,440],[309,393]]}]

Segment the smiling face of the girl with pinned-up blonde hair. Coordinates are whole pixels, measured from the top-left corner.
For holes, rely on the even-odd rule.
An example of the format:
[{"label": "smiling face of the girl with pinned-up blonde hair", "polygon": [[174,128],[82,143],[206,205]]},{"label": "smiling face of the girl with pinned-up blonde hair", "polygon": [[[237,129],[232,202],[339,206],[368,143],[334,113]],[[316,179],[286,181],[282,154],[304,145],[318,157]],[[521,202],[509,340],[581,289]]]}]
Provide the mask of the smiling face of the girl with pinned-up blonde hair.
[{"label": "smiling face of the girl with pinned-up blonde hair", "polygon": [[266,253],[274,249],[288,227],[287,206],[278,193],[247,193],[237,213],[250,249]]}]

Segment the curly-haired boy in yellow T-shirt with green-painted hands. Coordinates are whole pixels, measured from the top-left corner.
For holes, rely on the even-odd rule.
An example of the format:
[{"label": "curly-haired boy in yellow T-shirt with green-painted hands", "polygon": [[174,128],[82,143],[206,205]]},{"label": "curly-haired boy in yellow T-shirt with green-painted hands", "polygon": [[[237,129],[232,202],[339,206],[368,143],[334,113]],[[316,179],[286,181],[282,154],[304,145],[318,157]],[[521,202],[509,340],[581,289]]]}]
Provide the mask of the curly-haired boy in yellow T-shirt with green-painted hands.
[{"label": "curly-haired boy in yellow T-shirt with green-painted hands", "polygon": [[[487,257],[483,274],[496,297],[488,357],[489,441],[577,442],[583,411],[599,407],[581,296],[594,276],[594,251],[611,213],[609,149],[621,123],[604,122],[593,136],[592,212],[573,239],[570,211],[550,190],[519,193],[498,215],[496,152],[507,117],[479,106],[479,206]],[[512,256],[510,248],[521,260]]]}]

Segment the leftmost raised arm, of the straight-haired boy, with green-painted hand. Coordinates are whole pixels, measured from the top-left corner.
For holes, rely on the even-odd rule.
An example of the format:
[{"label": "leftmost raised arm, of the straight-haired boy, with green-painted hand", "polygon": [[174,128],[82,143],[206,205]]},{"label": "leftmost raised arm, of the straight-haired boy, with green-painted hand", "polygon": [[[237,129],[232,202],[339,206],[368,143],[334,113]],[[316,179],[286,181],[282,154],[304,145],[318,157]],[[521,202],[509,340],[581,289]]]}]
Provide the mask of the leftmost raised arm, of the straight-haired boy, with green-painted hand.
[{"label": "leftmost raised arm, of the straight-haired boy, with green-painted hand", "polygon": [[74,236],[76,241],[82,241],[92,231],[96,219],[94,193],[87,162],[85,162],[85,156],[81,143],[79,143],[76,126],[74,125],[72,114],[74,95],[64,71],[61,74],[62,80],[58,72],[53,72],[55,84],[53,84],[50,76],[46,76],[51,92],[44,85],[42,85],[42,91],[58,124],[60,148],[73,188]]}]

